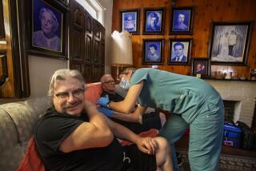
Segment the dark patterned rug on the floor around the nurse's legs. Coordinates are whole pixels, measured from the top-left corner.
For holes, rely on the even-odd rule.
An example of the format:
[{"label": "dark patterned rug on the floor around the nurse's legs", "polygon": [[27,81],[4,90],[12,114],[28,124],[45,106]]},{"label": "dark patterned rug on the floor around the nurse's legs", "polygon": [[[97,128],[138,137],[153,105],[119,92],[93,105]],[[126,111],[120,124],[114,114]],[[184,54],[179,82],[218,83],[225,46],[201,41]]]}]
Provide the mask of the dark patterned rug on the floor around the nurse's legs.
[{"label": "dark patterned rug on the floor around the nurse's legs", "polygon": [[[182,156],[181,171],[190,171],[187,149],[177,149]],[[256,171],[256,158],[221,154],[220,171]]]}]

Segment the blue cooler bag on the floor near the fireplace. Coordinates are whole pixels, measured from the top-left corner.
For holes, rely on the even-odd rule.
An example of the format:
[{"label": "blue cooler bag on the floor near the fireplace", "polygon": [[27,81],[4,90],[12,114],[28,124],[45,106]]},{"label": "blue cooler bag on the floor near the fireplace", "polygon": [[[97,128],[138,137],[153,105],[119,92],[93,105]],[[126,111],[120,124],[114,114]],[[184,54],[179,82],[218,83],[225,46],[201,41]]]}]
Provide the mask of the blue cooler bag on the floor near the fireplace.
[{"label": "blue cooler bag on the floor near the fireplace", "polygon": [[242,129],[233,123],[224,124],[223,145],[240,147]]}]

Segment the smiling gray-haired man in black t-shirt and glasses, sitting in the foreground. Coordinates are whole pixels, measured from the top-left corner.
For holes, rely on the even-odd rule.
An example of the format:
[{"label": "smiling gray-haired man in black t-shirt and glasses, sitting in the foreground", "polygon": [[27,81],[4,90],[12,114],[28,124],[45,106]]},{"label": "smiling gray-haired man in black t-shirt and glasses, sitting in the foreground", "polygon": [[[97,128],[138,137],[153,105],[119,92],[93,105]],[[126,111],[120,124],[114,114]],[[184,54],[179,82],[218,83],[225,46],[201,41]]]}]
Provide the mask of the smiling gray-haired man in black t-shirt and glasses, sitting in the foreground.
[{"label": "smiling gray-haired man in black t-shirt and glasses, sitting in the foreground", "polygon": [[115,136],[136,144],[138,158],[146,156],[146,164],[134,170],[172,170],[166,139],[139,137],[111,121],[86,101],[85,88],[77,70],[57,70],[51,78],[54,106],[46,110],[34,132],[46,170],[127,170],[130,158]]}]

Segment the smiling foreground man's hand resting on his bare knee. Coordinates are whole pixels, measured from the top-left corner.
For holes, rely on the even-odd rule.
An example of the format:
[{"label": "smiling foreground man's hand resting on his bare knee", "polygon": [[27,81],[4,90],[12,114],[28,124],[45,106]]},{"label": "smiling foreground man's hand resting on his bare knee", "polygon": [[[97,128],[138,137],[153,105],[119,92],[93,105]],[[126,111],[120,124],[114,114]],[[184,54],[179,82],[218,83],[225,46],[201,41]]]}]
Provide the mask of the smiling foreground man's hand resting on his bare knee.
[{"label": "smiling foreground man's hand resting on his bare knee", "polygon": [[158,141],[152,137],[139,137],[136,145],[139,150],[148,154],[155,154],[159,147]]}]

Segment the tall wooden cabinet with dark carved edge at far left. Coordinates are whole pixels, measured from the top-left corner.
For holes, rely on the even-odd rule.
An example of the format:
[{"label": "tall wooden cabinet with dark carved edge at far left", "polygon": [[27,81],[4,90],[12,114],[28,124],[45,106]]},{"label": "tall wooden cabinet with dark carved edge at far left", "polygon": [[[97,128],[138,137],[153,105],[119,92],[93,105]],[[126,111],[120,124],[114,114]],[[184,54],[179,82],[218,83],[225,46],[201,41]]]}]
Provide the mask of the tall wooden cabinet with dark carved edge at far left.
[{"label": "tall wooden cabinet with dark carved edge at far left", "polygon": [[26,54],[24,2],[0,1],[0,16],[5,28],[1,28],[0,98],[30,96],[30,82]]}]

